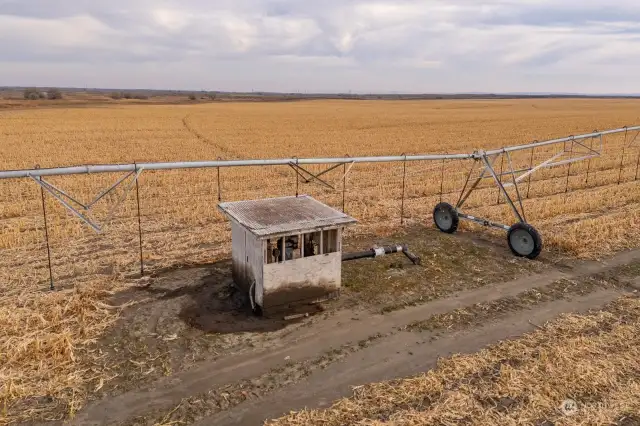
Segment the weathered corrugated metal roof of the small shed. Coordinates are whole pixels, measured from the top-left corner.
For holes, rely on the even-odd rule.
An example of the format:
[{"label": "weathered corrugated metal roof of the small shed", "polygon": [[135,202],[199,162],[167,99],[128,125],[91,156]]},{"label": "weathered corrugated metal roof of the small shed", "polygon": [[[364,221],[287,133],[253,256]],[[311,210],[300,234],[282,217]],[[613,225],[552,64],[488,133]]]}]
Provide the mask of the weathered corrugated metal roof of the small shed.
[{"label": "weathered corrugated metal roof of the small shed", "polygon": [[220,203],[218,207],[258,237],[357,222],[308,195]]}]

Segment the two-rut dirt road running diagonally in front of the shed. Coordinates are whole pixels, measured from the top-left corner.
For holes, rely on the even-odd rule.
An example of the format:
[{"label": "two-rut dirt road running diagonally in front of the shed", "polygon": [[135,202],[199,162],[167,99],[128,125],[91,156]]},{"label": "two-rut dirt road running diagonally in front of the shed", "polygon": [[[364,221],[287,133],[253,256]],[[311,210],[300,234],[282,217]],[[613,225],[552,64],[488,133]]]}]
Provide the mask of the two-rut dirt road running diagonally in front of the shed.
[{"label": "two-rut dirt road running diagonally in front of the shed", "polygon": [[326,406],[351,386],[422,372],[438,357],[521,335],[563,312],[600,307],[634,291],[639,265],[635,250],[386,314],[341,308],[284,326],[268,344],[96,401],[72,424],[250,425],[292,409]]}]

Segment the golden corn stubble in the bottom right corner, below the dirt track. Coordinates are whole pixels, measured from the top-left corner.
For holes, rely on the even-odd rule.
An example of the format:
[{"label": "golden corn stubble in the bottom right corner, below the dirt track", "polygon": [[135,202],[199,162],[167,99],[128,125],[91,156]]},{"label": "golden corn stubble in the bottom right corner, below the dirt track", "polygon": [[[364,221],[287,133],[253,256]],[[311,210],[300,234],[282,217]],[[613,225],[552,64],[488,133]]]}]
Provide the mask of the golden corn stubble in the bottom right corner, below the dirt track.
[{"label": "golden corn stubble in the bottom right corner, below the dirt track", "polygon": [[[423,375],[361,386],[329,409],[266,424],[635,424],[639,332],[640,300],[622,298],[604,311],[564,315],[520,339],[442,359]],[[563,411],[567,400],[577,411]]]}]

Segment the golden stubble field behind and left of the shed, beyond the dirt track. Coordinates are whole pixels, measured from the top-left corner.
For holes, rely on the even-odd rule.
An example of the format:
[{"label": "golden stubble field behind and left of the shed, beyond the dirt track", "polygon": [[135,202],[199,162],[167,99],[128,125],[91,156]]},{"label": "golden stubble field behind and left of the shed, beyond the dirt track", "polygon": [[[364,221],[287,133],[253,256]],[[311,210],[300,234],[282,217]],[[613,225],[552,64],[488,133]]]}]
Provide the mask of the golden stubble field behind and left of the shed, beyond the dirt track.
[{"label": "golden stubble field behind and left of the shed, beyond the dirt track", "polygon": [[[0,169],[472,152],[635,124],[640,124],[640,102],[635,100],[310,101],[9,110],[0,112]],[[628,135],[627,144],[633,136]],[[570,169],[544,170],[532,179],[524,204],[527,219],[542,232],[545,250],[593,257],[637,246],[640,142],[623,150],[625,136],[617,135],[606,137],[604,144],[599,159]],[[529,154],[515,155],[515,166],[527,167]],[[550,154],[540,149],[534,161]],[[361,221],[354,232],[400,226],[404,166],[351,168],[344,198],[347,213]],[[469,167],[468,161],[407,163],[406,222],[431,223],[441,176],[443,199],[455,202]],[[345,170],[339,167],[324,176],[335,190],[299,182],[299,192],[342,208]],[[48,180],[88,201],[118,177]],[[487,181],[483,187],[468,201],[470,213],[512,223],[504,201],[497,204],[495,186]],[[295,191],[296,174],[287,166],[223,168],[220,181],[214,169],[143,172],[140,201],[147,270],[228,256],[230,233],[216,210],[219,195],[229,201]],[[93,217],[104,218],[119,195],[100,202]],[[100,372],[79,370],[77,362],[98,356],[86,348],[118,314],[104,301],[137,278],[139,270],[135,193],[128,195],[102,235],[48,197],[54,277],[63,290],[42,292],[48,270],[41,209],[34,182],[0,181],[0,398],[9,407],[0,414],[0,423],[15,419],[12,404],[28,397],[52,395],[66,401],[70,412],[82,405],[86,385],[96,385]]]}]

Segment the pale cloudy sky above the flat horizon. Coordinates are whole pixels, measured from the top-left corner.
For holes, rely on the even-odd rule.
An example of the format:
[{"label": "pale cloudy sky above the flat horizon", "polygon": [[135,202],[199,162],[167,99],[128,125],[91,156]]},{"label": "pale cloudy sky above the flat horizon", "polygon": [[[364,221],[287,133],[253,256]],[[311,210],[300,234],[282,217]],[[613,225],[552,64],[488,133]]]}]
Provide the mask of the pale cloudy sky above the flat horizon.
[{"label": "pale cloudy sky above the flat horizon", "polygon": [[640,92],[639,0],[0,0],[0,86]]}]

